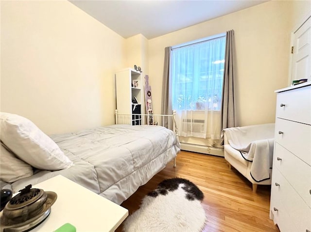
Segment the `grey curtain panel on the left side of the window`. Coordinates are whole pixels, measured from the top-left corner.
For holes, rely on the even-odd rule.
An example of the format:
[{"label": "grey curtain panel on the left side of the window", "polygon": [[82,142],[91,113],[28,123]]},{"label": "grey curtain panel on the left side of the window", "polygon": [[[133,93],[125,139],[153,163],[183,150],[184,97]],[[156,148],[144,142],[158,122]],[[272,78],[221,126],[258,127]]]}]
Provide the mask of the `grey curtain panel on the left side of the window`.
[{"label": "grey curtain panel on the left side of the window", "polygon": [[[161,114],[173,114],[172,109],[172,97],[171,97],[171,80],[170,80],[170,58],[171,58],[172,47],[165,47],[164,56],[164,68],[163,68],[163,81],[162,81],[162,103],[161,103]],[[164,126],[168,127],[168,120],[165,119]],[[170,122],[170,127],[173,124]]]}]

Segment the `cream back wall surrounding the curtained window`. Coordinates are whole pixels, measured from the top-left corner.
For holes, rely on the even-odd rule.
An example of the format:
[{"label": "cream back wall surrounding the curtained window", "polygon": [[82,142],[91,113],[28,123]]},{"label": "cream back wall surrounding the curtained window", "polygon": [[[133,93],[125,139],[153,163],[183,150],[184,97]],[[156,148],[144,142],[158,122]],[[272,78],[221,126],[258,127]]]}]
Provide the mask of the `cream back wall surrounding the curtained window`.
[{"label": "cream back wall surrounding the curtained window", "polygon": [[[309,3],[308,3],[309,4]],[[149,40],[149,77],[160,111],[164,47],[233,29],[236,44],[238,125],[275,121],[276,94],[287,86],[292,17],[306,2],[268,1]]]}]

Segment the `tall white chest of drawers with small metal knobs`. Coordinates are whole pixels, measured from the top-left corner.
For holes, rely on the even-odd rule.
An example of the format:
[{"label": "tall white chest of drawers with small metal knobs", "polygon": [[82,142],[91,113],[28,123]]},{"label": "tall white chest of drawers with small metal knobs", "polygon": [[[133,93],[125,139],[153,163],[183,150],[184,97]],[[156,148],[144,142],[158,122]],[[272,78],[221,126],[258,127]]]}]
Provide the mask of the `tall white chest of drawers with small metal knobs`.
[{"label": "tall white chest of drawers with small metal knobs", "polygon": [[311,82],[277,90],[270,218],[311,232]]}]

